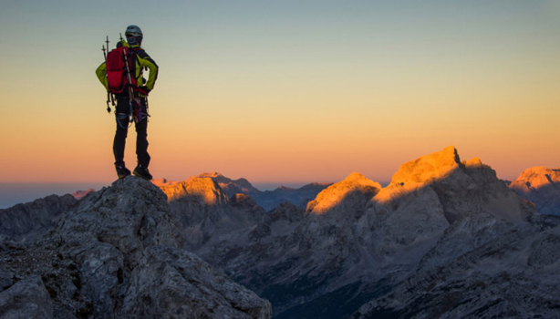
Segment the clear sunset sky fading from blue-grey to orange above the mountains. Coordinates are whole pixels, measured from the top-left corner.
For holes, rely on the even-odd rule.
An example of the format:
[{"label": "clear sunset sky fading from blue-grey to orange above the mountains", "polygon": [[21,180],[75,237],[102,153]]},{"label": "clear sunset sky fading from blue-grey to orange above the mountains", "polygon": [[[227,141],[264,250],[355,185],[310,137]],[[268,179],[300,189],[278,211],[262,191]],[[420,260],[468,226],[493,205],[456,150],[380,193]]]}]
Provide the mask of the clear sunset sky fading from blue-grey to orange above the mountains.
[{"label": "clear sunset sky fading from blue-grey to orange above the mountains", "polygon": [[560,0],[1,0],[0,182],[116,179],[94,71],[131,24],[155,178],[386,181],[450,145],[503,179],[560,166]]}]

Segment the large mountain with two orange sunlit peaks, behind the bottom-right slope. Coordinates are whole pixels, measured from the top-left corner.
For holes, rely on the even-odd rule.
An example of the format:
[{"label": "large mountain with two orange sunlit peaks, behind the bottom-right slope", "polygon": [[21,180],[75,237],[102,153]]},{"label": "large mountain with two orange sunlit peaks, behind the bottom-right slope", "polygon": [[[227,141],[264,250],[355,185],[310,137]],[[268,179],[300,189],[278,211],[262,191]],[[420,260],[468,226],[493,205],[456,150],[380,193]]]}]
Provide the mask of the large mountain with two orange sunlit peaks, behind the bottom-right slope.
[{"label": "large mountain with two orange sunlit peaks, behind the bottom-right slope", "polygon": [[[214,233],[197,253],[269,299],[275,318],[346,318],[417,275],[437,273],[493,242],[511,242],[512,232],[530,237],[554,225],[540,220],[480,159],[461,162],[450,147],[403,164],[386,188],[352,174],[317,195],[307,212],[280,205],[254,225]],[[541,242],[548,251],[555,237]],[[534,260],[555,264],[554,254],[549,260],[544,255],[535,252]],[[469,273],[470,263],[461,264]],[[434,300],[443,303],[438,298],[444,295]],[[418,307],[415,301],[404,299],[402,307]],[[500,307],[508,306],[497,304],[488,314],[502,314]]]}]

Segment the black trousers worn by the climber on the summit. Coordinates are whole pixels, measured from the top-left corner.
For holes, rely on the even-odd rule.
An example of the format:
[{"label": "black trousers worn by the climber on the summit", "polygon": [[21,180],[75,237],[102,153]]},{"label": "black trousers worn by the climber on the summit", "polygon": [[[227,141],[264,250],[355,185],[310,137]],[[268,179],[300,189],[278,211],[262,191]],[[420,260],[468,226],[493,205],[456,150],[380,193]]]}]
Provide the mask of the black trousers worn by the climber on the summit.
[{"label": "black trousers worn by the climber on the summit", "polygon": [[[134,123],[136,127],[136,155],[138,163],[143,168],[150,165],[150,154],[148,154],[148,112],[146,109],[146,99],[140,98],[141,120]],[[115,164],[124,163],[124,149],[129,131],[130,101],[129,97],[117,96],[117,131],[113,141],[113,153],[115,154]]]}]

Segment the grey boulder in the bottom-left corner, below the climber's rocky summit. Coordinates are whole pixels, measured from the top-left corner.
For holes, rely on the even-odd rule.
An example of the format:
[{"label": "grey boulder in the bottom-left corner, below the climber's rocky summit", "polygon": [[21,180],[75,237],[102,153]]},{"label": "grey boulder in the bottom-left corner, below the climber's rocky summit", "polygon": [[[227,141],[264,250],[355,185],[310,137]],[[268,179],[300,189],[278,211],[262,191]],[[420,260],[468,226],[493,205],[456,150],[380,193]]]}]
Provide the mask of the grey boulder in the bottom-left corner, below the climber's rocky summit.
[{"label": "grey boulder in the bottom-left corner, below the climber's rocky summit", "polygon": [[0,317],[53,318],[53,304],[39,276],[29,276],[0,293]]}]

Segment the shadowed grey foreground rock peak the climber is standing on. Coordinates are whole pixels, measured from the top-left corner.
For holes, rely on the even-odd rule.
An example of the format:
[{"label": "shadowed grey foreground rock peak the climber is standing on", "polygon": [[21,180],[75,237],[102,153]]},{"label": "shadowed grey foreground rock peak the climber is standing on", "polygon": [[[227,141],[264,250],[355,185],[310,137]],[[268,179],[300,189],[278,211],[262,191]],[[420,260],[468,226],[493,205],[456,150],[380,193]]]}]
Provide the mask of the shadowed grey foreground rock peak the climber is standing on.
[{"label": "shadowed grey foreground rock peak the climber is standing on", "polygon": [[[185,251],[182,233],[161,190],[135,177],[117,180],[61,214],[57,226],[40,241],[3,243],[0,314],[271,316],[268,302]],[[15,312],[12,299],[24,305],[35,299],[45,302],[36,306],[35,316],[27,316]]]}]

